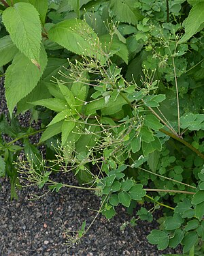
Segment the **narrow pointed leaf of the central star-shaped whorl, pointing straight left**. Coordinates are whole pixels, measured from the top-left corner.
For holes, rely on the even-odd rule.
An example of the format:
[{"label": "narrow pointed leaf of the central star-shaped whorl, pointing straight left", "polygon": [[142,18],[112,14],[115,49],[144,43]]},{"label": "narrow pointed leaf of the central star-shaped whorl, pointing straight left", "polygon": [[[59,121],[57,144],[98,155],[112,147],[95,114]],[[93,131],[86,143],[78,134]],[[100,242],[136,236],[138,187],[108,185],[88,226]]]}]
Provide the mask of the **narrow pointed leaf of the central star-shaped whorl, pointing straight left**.
[{"label": "narrow pointed leaf of the central star-shaped whorl, pointing straight left", "polygon": [[56,98],[36,100],[31,102],[31,104],[45,106],[47,109],[51,109],[56,112],[61,112],[67,109],[67,102],[65,102],[65,100],[59,100]]}]

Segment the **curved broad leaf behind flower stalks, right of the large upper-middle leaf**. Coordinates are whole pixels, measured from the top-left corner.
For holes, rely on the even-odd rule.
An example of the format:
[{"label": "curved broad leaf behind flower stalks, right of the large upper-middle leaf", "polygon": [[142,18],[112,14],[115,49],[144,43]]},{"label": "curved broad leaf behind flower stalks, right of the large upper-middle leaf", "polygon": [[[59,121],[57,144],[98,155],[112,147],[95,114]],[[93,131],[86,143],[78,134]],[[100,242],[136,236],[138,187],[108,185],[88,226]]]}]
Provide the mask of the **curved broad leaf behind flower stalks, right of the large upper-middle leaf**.
[{"label": "curved broad leaf behind flower stalks, right of the large upper-middle leaf", "polygon": [[128,48],[126,47],[126,44],[120,42],[118,38],[111,38],[111,35],[107,34],[101,35],[99,40],[103,46],[103,49],[107,51],[107,53],[112,53],[112,55],[118,55],[121,59],[124,60],[126,64],[129,62]]}]

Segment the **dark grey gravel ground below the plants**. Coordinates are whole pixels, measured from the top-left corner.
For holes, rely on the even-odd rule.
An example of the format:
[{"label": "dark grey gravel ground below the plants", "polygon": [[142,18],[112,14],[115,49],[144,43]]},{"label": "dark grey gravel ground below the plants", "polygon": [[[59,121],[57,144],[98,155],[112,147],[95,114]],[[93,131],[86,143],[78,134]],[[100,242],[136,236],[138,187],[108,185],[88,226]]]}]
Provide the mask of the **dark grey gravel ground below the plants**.
[{"label": "dark grey gravel ground below the plants", "polygon": [[[7,109],[3,80],[0,82],[1,114],[7,113]],[[27,115],[20,120],[27,122]],[[67,184],[77,184],[71,173],[55,178]],[[96,214],[94,210],[99,209],[98,197],[86,190],[62,188],[58,193],[48,193],[37,201],[31,201],[32,193],[42,195],[46,190],[28,187],[18,192],[18,201],[10,201],[9,181],[3,178],[0,184],[0,256],[162,255],[146,239],[158,223],[138,221],[136,227],[120,231],[120,226],[131,219],[122,207],[118,208],[118,214],[111,221],[100,215],[81,242],[68,249],[65,230],[78,230],[85,220],[87,225],[90,224]]]}]

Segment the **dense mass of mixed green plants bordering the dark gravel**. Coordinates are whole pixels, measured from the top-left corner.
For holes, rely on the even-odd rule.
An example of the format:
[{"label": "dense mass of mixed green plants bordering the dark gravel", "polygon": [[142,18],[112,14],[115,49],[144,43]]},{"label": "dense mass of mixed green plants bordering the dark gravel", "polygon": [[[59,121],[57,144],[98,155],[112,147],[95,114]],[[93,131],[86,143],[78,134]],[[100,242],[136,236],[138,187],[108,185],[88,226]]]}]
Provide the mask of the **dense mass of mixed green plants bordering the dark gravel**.
[{"label": "dense mass of mixed green plants bordering the dark gravel", "polygon": [[[10,177],[12,197],[24,179],[58,192],[71,185],[52,173],[73,171],[75,188],[101,197],[95,218],[112,218],[119,204],[133,212],[152,202],[123,227],[152,221],[163,207],[149,242],[203,255],[204,1],[0,2],[10,113],[0,128],[13,138],[1,138],[0,175]],[[18,125],[27,110],[41,130]],[[29,143],[38,132],[46,159]],[[84,222],[69,245],[90,226]]]}]

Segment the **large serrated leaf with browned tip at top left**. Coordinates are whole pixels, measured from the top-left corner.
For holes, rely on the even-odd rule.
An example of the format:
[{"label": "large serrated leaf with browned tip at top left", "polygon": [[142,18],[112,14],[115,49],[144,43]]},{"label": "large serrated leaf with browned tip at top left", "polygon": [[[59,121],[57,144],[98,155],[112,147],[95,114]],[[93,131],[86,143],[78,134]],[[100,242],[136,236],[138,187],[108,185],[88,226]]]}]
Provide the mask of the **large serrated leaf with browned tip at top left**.
[{"label": "large serrated leaf with browned tip at top left", "polygon": [[2,18],[14,44],[39,68],[41,24],[37,10],[30,3],[15,3],[3,12]]}]

